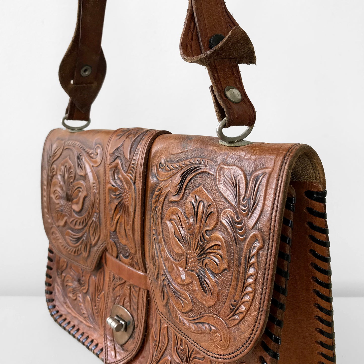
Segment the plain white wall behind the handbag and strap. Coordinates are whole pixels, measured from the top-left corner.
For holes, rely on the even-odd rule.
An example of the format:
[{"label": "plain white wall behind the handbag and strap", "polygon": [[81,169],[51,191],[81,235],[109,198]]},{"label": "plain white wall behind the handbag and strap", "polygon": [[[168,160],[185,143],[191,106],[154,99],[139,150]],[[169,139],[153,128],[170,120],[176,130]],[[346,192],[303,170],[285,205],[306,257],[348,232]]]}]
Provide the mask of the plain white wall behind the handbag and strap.
[{"label": "plain white wall behind the handbag and strap", "polygon": [[[333,294],[364,296],[364,3],[226,2],[257,54],[257,66],[241,66],[257,110],[249,139],[302,142],[318,152],[327,176]],[[93,128],[215,135],[207,71],[179,56],[187,3],[108,1],[108,71],[92,106]],[[76,9],[76,0],[0,1],[1,295],[44,292],[41,151],[68,102],[58,66]]]}]

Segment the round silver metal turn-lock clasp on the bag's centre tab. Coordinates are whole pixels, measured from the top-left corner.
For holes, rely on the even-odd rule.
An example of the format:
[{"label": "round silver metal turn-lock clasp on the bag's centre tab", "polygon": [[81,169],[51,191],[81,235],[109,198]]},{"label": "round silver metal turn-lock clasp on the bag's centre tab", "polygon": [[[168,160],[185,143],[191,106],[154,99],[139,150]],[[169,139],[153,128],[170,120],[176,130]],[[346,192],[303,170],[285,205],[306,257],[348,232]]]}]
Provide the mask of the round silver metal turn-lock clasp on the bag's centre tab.
[{"label": "round silver metal turn-lock clasp on the bag's centre tab", "polygon": [[134,330],[134,319],[131,313],[123,306],[114,305],[111,308],[111,315],[106,323],[114,331],[114,339],[119,345],[124,345]]}]

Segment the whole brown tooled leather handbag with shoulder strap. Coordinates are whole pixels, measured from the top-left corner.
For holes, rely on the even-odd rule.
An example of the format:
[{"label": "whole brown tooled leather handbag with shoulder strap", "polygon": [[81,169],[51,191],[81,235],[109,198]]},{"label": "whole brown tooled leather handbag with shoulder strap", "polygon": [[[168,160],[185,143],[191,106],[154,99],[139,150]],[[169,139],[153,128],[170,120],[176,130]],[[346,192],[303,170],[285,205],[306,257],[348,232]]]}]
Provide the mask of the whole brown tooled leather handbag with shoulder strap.
[{"label": "whole brown tooled leather handbag with shoulder strap", "polygon": [[223,0],[190,0],[181,55],[209,71],[219,138],[80,131],[66,122],[90,122],[105,5],[79,0],[66,130],[44,144],[51,317],[110,364],[335,363],[323,167],[307,145],[244,140],[249,37]]}]

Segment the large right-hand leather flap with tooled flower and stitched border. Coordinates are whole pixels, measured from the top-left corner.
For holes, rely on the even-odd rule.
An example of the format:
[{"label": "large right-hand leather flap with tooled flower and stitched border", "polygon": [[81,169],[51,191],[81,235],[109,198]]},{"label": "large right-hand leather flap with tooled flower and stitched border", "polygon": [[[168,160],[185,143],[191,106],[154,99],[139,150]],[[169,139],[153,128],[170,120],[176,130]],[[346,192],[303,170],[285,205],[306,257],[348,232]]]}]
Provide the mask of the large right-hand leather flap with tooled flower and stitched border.
[{"label": "large right-hand leather flap with tooled flower and stitched border", "polygon": [[182,135],[153,144],[145,232],[151,294],[162,320],[212,360],[240,359],[263,333],[290,170],[305,148],[231,148]]}]

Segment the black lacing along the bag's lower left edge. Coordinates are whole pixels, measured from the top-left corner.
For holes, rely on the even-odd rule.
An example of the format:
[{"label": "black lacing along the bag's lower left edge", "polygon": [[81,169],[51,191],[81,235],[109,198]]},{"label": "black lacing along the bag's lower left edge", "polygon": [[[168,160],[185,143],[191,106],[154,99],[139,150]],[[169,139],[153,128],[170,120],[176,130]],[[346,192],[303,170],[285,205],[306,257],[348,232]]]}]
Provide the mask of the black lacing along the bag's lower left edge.
[{"label": "black lacing along the bag's lower left edge", "polygon": [[[49,252],[48,261],[52,263],[52,262],[54,262],[54,259],[55,259],[54,252],[52,249],[48,249],[48,252]],[[50,281],[46,280],[46,282],[45,282],[45,284],[46,284],[45,292],[46,292],[46,302],[48,304],[48,310],[51,314],[51,317],[60,327],[63,328],[64,331],[68,332],[77,341],[82,343],[88,350],[90,350],[92,353],[94,353],[94,355],[96,355],[99,359],[101,359],[103,361],[103,358],[100,358],[99,356],[103,352],[104,349],[100,348],[97,352],[95,352],[95,350],[98,348],[99,344],[98,343],[94,344],[94,339],[91,339],[86,344],[86,341],[89,339],[89,336],[87,335],[82,339],[82,337],[85,335],[84,332],[81,332],[76,337],[76,334],[78,334],[80,329],[76,328],[76,325],[72,324],[71,321],[67,320],[66,317],[63,317],[63,314],[59,313],[59,311],[57,310],[55,301],[53,298],[53,291],[51,290],[52,289],[52,270],[53,270],[52,266],[47,265],[46,278],[48,278],[48,280],[50,280]],[[58,321],[59,318],[61,318],[61,320]],[[94,344],[94,345],[92,345],[92,344]]]}]

